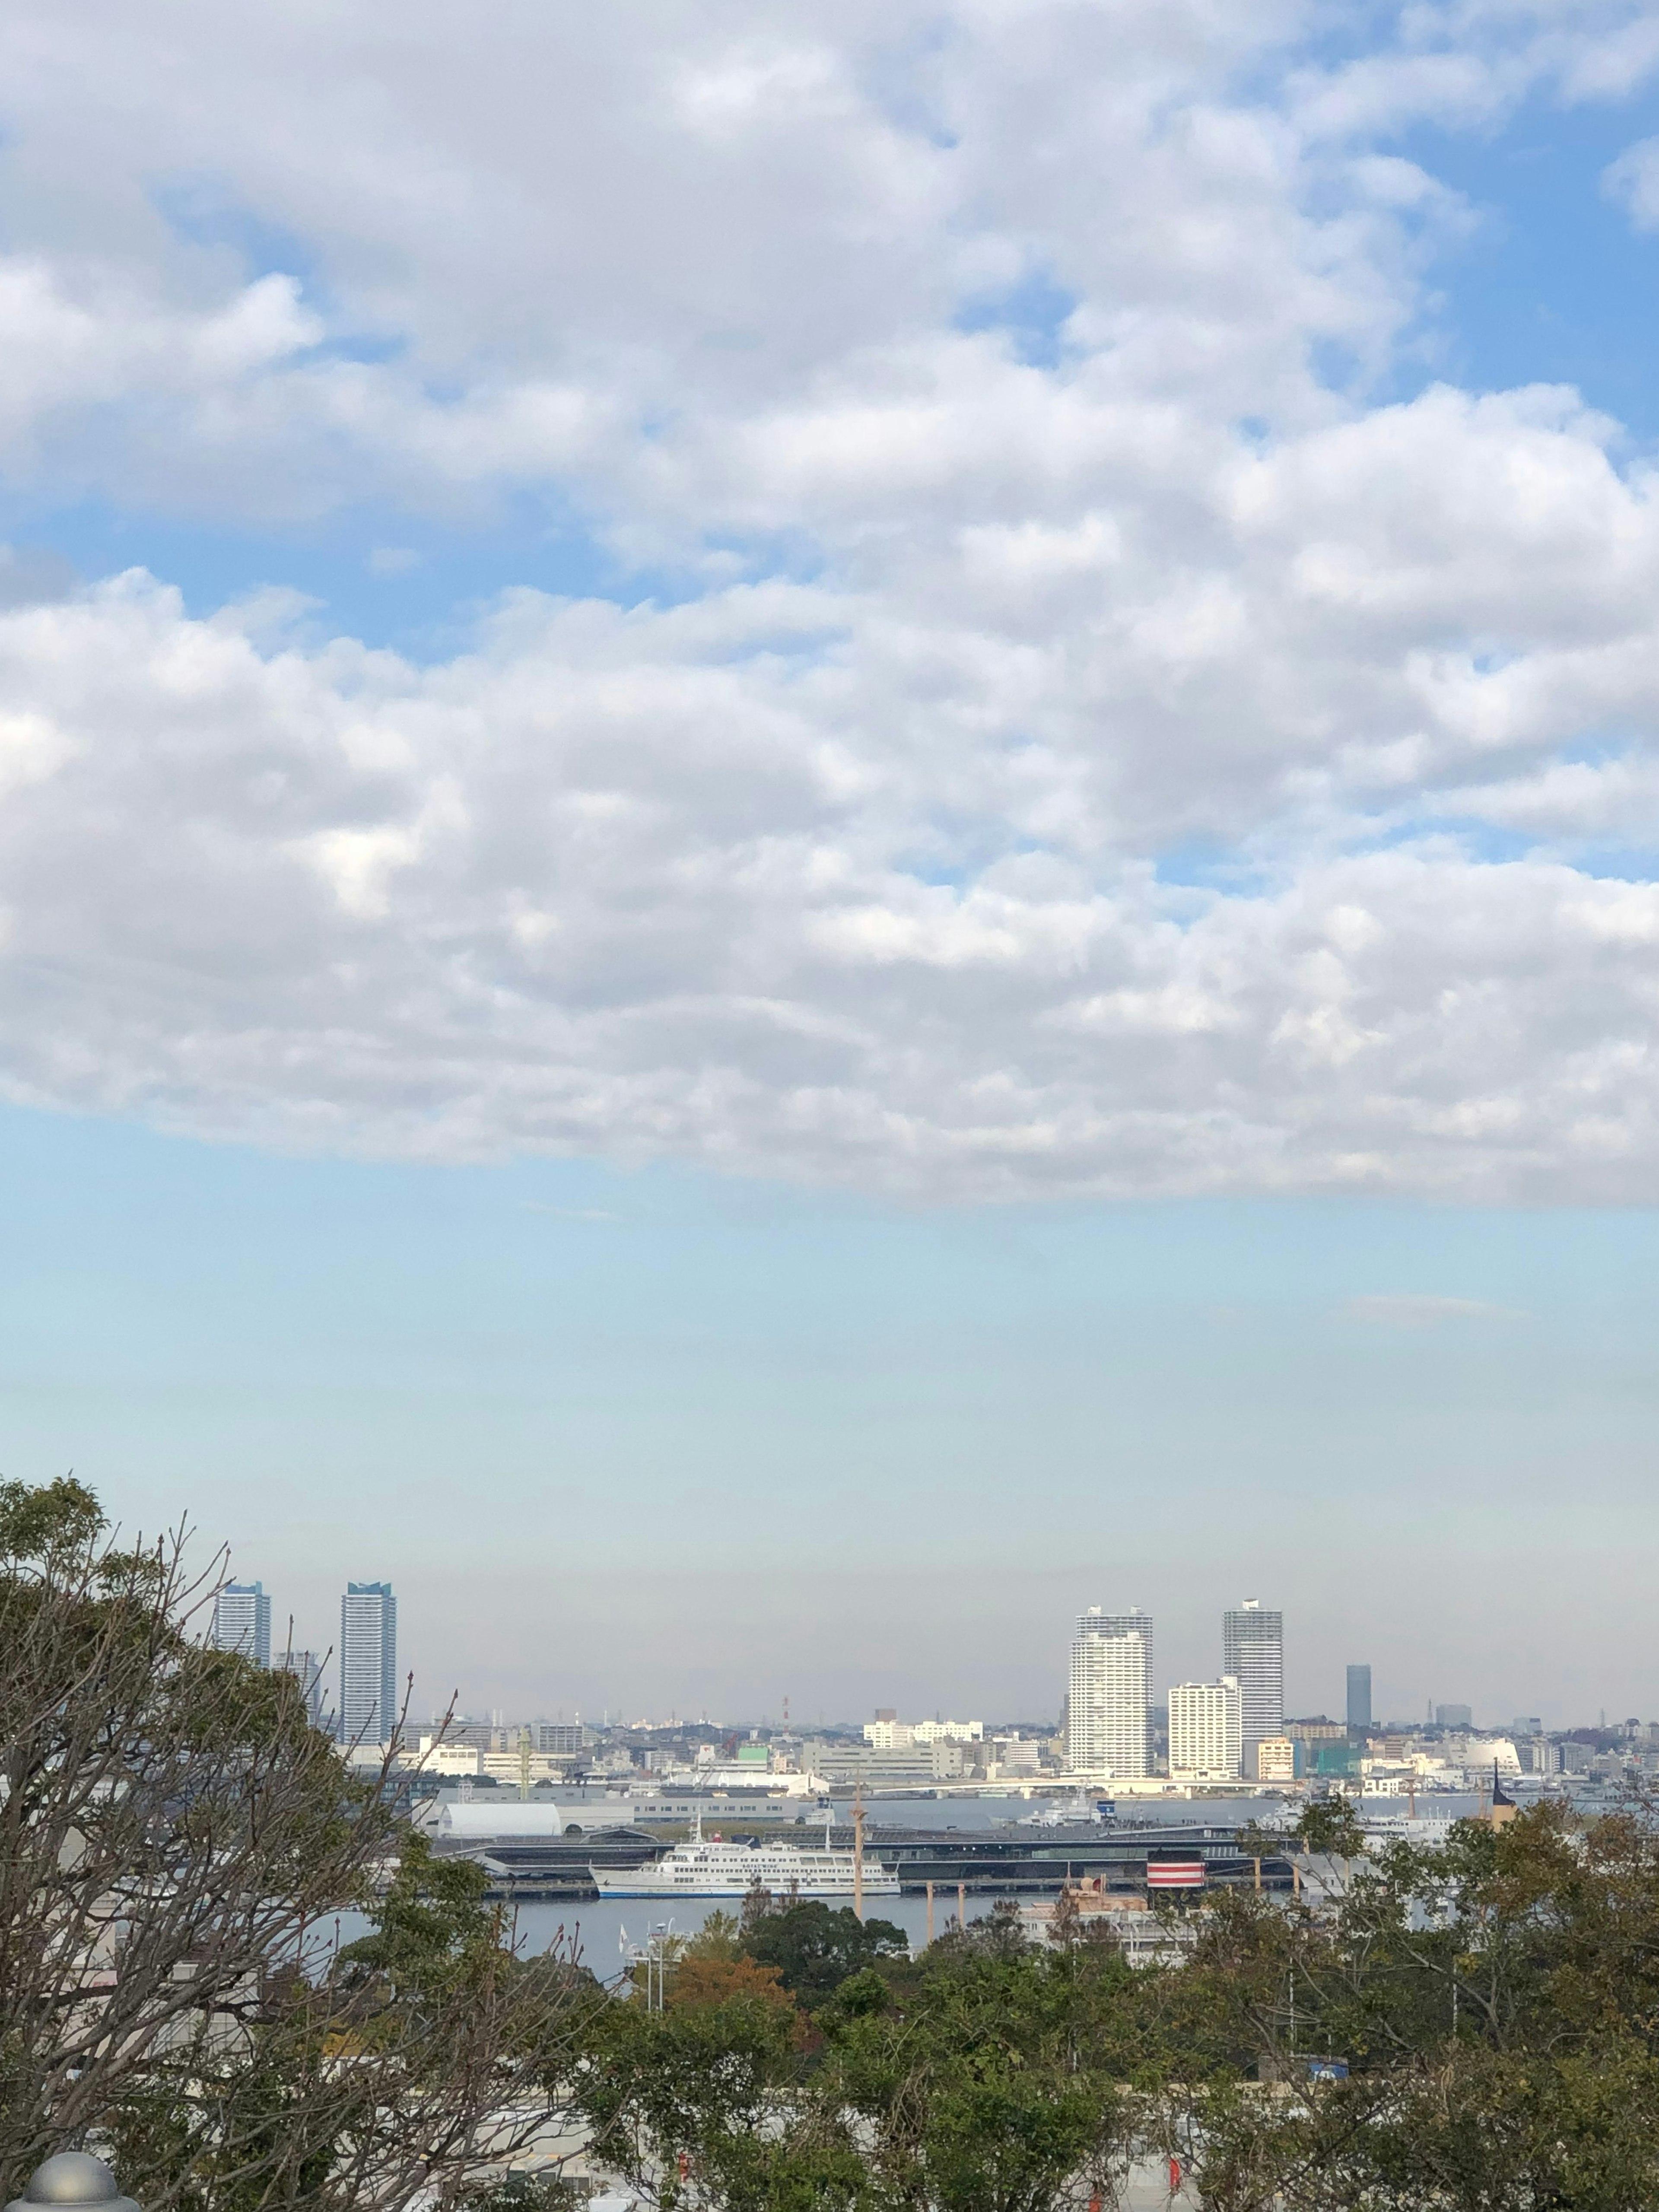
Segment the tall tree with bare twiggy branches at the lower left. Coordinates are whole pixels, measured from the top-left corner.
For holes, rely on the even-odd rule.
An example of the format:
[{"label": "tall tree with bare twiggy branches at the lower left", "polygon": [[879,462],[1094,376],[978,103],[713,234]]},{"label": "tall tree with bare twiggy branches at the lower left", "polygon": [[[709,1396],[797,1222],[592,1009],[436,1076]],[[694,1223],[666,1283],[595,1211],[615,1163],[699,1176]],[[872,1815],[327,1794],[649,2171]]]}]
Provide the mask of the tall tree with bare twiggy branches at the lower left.
[{"label": "tall tree with bare twiggy branches at the lower left", "polygon": [[407,1829],[392,1745],[349,1772],[204,1641],[219,1566],[0,1484],[0,2201],[82,2143],[155,2212],[478,2194],[553,2117],[577,1978]]}]

